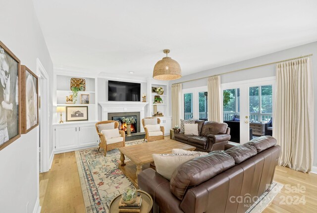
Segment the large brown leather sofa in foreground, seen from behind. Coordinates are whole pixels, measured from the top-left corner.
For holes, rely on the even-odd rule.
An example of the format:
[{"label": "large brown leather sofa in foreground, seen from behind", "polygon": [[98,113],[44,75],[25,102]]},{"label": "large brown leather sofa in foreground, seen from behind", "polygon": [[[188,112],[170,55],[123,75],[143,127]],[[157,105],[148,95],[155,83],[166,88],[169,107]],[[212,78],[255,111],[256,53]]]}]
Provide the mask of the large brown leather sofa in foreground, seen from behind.
[{"label": "large brown leather sofa in foreground, seen from behind", "polygon": [[262,136],[189,160],[170,181],[145,169],[138,185],[152,196],[154,213],[244,213],[272,183],[279,155],[276,140]]}]

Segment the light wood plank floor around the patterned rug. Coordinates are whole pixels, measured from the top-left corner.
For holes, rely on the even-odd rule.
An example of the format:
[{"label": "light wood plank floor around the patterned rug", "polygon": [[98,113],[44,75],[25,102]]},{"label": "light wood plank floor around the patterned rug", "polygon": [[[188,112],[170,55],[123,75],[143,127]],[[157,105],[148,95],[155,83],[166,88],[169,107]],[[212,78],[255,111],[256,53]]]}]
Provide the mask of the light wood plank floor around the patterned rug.
[{"label": "light wood plank floor around the patterned rug", "polygon": [[[317,212],[317,174],[304,174],[289,168],[277,166],[274,181],[289,186],[305,187],[305,192],[287,193],[287,187],[274,198],[264,213],[316,213]],[[305,196],[306,204],[281,205],[295,201],[296,196]],[[302,200],[303,201],[303,200]],[[85,205],[77,171],[75,153],[54,156],[52,169],[40,174],[40,205],[42,213],[85,213]]]}]

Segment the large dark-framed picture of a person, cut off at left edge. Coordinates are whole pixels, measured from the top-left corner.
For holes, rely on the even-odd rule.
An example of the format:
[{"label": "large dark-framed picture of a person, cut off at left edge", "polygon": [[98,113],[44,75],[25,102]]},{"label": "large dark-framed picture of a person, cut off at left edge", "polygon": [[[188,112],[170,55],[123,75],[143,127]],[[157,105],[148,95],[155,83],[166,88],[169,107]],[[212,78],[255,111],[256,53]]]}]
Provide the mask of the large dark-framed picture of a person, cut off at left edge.
[{"label": "large dark-framed picture of a person, cut off at left edge", "polygon": [[21,136],[20,60],[0,42],[0,150]]}]

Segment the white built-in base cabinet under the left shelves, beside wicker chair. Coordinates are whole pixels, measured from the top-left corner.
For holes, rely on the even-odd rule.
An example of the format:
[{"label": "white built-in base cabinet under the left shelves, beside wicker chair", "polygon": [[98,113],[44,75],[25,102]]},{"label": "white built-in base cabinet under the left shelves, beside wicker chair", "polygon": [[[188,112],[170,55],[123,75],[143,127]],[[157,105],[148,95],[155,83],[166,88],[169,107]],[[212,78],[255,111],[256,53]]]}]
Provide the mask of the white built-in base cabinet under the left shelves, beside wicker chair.
[{"label": "white built-in base cabinet under the left shelves, beside wicker chair", "polygon": [[99,144],[96,122],[53,124],[55,153],[94,147]]}]

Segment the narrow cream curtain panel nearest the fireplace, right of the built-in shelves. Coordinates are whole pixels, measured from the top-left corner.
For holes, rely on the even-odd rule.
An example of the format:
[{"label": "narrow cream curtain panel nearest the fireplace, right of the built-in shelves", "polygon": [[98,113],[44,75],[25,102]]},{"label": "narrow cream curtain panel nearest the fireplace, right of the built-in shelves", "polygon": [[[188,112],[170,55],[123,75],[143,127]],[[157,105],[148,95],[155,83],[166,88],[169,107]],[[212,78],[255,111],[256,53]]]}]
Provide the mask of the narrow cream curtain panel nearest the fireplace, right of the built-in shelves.
[{"label": "narrow cream curtain panel nearest the fireplace, right of the built-in shelves", "polygon": [[182,84],[172,85],[172,128],[180,126],[180,106],[182,100]]}]

